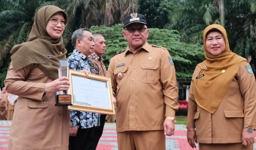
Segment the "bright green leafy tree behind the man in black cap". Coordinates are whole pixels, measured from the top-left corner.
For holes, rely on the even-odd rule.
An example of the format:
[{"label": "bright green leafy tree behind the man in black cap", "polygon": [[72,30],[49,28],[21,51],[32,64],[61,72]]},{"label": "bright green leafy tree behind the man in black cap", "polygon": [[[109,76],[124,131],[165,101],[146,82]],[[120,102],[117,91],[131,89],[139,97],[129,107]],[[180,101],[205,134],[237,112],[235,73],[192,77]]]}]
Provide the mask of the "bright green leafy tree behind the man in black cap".
[{"label": "bright green leafy tree behind the man in black cap", "polygon": [[[93,34],[100,33],[105,37],[107,49],[103,58],[107,67],[111,57],[118,52],[122,52],[128,46],[122,35],[122,24],[112,27],[92,26],[90,30]],[[175,64],[177,78],[191,78],[197,63],[204,60],[203,47],[199,44],[181,42],[179,33],[176,30],[157,28],[149,30],[147,42],[168,49]]]}]

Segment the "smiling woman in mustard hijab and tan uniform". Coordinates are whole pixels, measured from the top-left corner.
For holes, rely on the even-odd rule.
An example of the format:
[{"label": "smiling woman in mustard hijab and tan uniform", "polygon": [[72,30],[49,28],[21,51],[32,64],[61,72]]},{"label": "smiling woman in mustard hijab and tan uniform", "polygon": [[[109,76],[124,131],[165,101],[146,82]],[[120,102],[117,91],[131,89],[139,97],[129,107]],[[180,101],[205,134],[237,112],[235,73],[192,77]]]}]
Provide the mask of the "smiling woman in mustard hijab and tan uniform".
[{"label": "smiling woman in mustard hijab and tan uniform", "polygon": [[245,58],[229,49],[226,30],[203,32],[205,58],[189,89],[188,143],[199,150],[253,150],[256,82]]}]

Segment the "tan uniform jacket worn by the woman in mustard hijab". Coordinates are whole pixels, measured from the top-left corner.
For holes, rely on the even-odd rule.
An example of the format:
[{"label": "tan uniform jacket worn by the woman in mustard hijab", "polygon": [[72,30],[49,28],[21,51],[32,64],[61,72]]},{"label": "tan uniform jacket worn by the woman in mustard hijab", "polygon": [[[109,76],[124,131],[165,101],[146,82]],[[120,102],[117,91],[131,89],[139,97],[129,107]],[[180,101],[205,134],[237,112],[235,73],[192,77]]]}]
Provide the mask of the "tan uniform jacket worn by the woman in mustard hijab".
[{"label": "tan uniform jacket worn by the woman in mustard hijab", "polygon": [[256,83],[254,74],[247,71],[246,65],[249,65],[246,61],[241,63],[213,114],[199,107],[194,100],[193,82],[201,70],[196,66],[189,89],[187,128],[196,128],[199,143],[239,143],[242,142],[243,128],[256,129]]}]

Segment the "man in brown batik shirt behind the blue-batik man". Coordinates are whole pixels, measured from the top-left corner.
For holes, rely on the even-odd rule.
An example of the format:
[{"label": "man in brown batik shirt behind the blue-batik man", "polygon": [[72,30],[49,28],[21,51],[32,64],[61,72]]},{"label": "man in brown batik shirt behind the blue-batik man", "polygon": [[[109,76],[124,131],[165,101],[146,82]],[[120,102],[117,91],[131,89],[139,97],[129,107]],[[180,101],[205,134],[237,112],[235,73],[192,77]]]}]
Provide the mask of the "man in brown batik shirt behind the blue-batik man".
[{"label": "man in brown batik shirt behind the blue-batik man", "polygon": [[[93,34],[94,37],[94,47],[93,53],[90,55],[90,67],[93,74],[105,76],[107,73],[107,69],[103,63],[102,55],[105,54],[106,51],[106,41],[101,34]],[[100,126],[95,128],[94,131],[94,150],[97,147],[97,144],[101,138],[103,128],[105,125],[106,115],[101,114],[101,123]]]}]

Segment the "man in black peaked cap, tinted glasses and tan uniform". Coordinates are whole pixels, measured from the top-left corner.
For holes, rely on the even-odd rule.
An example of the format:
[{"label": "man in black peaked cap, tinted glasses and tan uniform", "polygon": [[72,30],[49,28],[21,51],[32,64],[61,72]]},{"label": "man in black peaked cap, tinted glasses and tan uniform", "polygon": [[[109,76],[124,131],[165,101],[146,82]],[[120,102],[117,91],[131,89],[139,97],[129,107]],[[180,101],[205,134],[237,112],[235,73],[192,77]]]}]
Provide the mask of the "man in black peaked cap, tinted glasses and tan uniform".
[{"label": "man in black peaked cap, tinted glasses and tan uniform", "polygon": [[166,48],[147,43],[145,16],[124,19],[126,50],[112,57],[107,71],[116,105],[119,150],[165,150],[165,135],[175,129],[178,89]]}]

